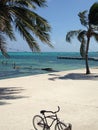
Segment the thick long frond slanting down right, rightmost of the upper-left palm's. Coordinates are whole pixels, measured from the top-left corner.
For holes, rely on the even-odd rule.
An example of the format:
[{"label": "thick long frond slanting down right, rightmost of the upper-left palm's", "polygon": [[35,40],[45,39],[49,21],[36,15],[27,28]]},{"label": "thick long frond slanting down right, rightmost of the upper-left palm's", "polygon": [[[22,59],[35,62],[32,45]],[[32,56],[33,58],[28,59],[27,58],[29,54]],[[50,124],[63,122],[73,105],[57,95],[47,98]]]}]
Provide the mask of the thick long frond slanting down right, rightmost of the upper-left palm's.
[{"label": "thick long frond slanting down right, rightmost of the upper-left palm's", "polygon": [[[49,36],[51,27],[47,20],[24,8],[13,7],[11,11],[17,16],[21,23],[29,29],[29,31],[32,31],[33,34],[35,34],[42,42],[47,43],[50,47],[53,47]],[[22,15],[23,13],[24,15]]]}]

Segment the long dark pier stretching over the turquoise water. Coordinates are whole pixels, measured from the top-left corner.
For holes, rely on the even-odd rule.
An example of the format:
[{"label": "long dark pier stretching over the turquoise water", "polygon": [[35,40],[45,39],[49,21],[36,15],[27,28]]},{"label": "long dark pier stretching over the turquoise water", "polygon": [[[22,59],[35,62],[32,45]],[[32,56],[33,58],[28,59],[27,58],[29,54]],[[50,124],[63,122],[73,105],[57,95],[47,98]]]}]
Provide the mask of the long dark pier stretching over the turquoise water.
[{"label": "long dark pier stretching over the turquoise water", "polygon": [[[85,60],[85,58],[82,57],[66,57],[66,56],[57,56],[57,59],[71,59],[71,60]],[[98,61],[98,58],[96,57],[89,57],[88,60]]]}]

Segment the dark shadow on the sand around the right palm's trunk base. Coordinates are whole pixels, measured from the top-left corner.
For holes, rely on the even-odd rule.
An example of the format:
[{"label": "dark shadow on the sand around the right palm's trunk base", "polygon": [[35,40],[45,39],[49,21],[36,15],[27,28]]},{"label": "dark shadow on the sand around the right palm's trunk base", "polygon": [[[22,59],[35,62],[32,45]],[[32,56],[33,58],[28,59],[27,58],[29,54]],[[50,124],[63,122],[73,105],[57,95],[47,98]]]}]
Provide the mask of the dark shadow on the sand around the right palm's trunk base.
[{"label": "dark shadow on the sand around the right palm's trunk base", "polygon": [[98,80],[98,74],[83,74],[83,73],[69,73],[64,76],[56,75],[56,74],[49,74],[49,76],[52,76],[49,78],[49,80],[56,80],[56,79],[62,79],[62,80]]}]

